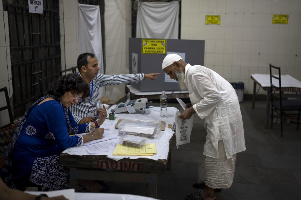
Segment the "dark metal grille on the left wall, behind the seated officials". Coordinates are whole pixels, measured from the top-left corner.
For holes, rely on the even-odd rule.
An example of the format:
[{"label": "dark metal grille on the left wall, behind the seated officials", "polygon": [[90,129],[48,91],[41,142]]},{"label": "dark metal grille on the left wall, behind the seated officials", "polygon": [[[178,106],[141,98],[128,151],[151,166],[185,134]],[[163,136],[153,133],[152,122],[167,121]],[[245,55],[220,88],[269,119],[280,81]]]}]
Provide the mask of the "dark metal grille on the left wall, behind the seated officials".
[{"label": "dark metal grille on the left wall, behind the seated officials", "polygon": [[[43,8],[43,14],[29,13],[28,0],[3,0],[3,10],[8,12],[15,117],[40,97],[39,80],[61,69],[59,1],[43,0]],[[52,81],[43,83],[45,88]]]}]

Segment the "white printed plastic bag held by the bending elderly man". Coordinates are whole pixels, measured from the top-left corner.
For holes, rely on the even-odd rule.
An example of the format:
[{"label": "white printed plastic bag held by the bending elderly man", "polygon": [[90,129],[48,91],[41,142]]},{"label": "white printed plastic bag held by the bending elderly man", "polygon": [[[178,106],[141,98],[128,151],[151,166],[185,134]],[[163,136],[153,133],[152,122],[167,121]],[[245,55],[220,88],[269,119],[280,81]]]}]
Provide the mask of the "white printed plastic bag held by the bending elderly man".
[{"label": "white printed plastic bag held by the bending elderly man", "polygon": [[180,119],[180,115],[181,113],[177,112],[175,116],[177,148],[182,144],[190,143],[190,134],[193,126],[193,115],[190,119]]}]

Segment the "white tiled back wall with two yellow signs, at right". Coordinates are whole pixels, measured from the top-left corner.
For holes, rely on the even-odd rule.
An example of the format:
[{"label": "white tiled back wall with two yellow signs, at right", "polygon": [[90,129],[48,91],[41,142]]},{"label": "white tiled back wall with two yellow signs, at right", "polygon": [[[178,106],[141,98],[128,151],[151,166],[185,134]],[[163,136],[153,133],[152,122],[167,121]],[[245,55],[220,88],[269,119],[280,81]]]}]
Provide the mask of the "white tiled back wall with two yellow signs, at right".
[{"label": "white tiled back wall with two yellow signs, at right", "polygon": [[[244,93],[253,92],[251,74],[269,73],[269,63],[301,80],[301,0],[181,3],[181,39],[205,40],[205,67],[244,82]],[[289,15],[288,24],[272,24],[273,14]],[[205,25],[205,15],[220,15],[220,25]]]}]

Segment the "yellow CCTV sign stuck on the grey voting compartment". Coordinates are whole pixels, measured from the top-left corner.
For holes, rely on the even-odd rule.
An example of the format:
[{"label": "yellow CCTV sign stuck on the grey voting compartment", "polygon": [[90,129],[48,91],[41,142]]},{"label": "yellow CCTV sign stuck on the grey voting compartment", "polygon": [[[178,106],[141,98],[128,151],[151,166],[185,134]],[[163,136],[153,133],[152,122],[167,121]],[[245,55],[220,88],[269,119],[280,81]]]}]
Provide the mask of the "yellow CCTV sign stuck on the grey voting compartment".
[{"label": "yellow CCTV sign stuck on the grey voting compartment", "polygon": [[142,53],[166,54],[166,39],[142,39]]}]

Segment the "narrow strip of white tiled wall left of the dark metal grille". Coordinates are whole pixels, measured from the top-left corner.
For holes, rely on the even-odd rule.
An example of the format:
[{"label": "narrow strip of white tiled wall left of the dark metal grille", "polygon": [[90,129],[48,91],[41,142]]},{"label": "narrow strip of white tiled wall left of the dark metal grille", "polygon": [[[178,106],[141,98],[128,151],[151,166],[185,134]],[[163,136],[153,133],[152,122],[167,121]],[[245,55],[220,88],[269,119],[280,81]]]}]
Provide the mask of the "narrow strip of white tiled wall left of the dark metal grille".
[{"label": "narrow strip of white tiled wall left of the dark metal grille", "polygon": [[[7,87],[9,97],[13,95],[12,88],[12,74],[10,63],[10,49],[9,49],[9,33],[8,33],[8,15],[3,11],[2,0],[0,0],[0,61],[2,63],[0,73],[0,88]],[[6,99],[4,92],[0,93],[0,107],[6,106]],[[0,112],[0,127],[8,124],[8,111]]]}]

